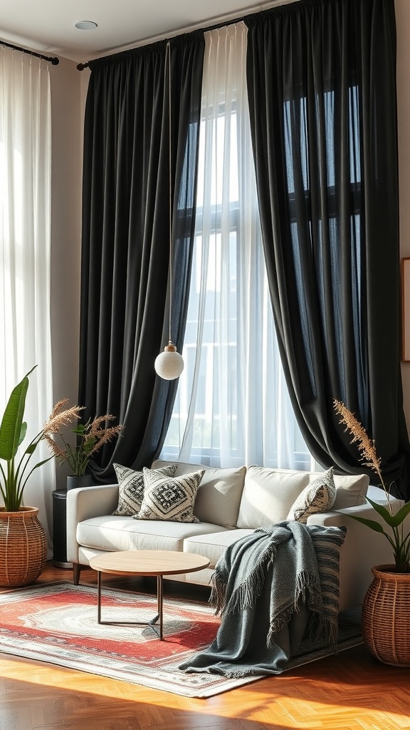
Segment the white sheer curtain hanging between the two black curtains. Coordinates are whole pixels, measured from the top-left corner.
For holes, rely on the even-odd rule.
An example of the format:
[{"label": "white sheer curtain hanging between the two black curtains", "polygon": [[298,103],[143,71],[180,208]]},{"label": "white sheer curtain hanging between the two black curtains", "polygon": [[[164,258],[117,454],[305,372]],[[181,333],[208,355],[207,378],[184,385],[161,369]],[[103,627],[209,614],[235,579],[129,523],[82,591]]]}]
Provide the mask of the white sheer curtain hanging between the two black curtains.
[{"label": "white sheer curtain hanging between the two black curtains", "polygon": [[268,295],[246,46],[243,23],[206,33],[185,370],[162,457],[310,469],[287,395]]}]

